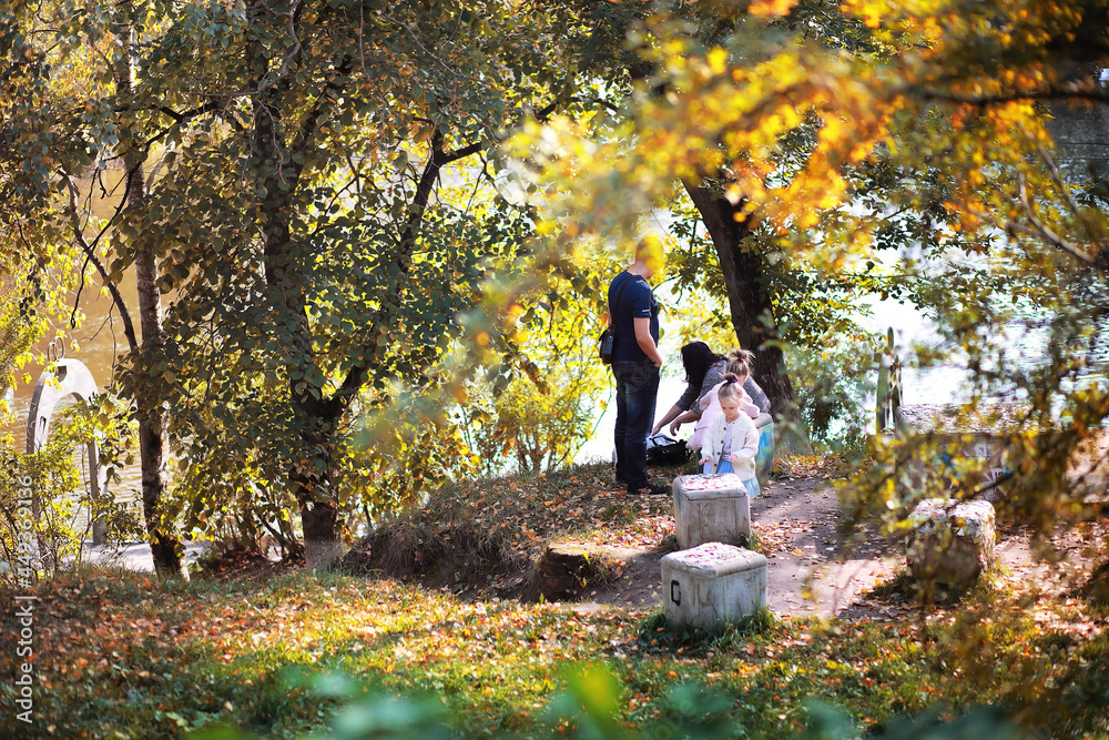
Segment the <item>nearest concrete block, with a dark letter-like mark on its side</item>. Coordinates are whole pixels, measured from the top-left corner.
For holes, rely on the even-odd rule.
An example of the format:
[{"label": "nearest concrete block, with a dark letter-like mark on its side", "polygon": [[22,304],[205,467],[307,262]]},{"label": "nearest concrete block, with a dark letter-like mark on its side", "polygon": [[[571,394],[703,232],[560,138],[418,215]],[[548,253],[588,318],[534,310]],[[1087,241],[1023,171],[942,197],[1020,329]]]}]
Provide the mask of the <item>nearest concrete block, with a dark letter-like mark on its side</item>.
[{"label": "nearest concrete block, with a dark letter-like mark on its side", "polygon": [[667,621],[709,629],[766,607],[766,558],[705,543],[662,558]]}]

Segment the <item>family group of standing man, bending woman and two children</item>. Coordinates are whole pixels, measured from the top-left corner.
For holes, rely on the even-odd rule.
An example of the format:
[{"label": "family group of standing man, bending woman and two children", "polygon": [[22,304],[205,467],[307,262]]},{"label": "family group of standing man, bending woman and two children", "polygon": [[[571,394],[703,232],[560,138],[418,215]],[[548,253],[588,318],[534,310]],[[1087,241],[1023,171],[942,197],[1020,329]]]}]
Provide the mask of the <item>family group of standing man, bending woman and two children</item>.
[{"label": "family group of standing man, bending woman and two children", "polygon": [[751,377],[754,356],[733,349],[726,356],[704,342],[682,347],[689,384],[662,418],[651,423],[659,393],[659,304],[648,280],[657,270],[651,245],[641,242],[635,261],[609,284],[609,325],[612,327],[612,374],[617,381],[614,432],[617,480],[630,494],[669,493],[647,474],[647,439],[669,426],[674,434],[694,423],[691,448],[700,450],[704,475],[734,473],[751,496],[759,495],[755,454],[759,433],[754,418],[770,412],[770,399]]}]

